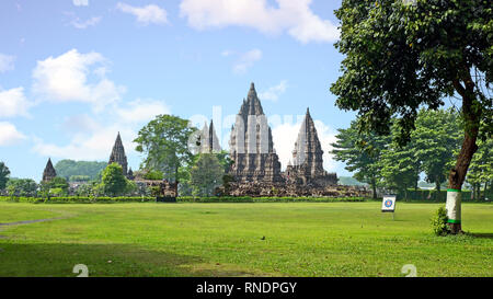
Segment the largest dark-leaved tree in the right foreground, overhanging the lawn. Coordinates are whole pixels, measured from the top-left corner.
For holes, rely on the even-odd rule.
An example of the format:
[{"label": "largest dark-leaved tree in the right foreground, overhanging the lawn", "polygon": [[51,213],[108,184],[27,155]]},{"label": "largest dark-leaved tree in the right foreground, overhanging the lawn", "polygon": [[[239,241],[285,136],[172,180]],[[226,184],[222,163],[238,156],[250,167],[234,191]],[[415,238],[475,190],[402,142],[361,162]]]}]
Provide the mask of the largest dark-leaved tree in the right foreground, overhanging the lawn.
[{"label": "largest dark-leaved tree in the right foreground, overhanging the lawn", "polygon": [[[460,96],[465,138],[449,187],[461,189],[478,137],[493,131],[491,1],[343,0],[335,15],[335,46],[346,57],[331,91],[340,108],[358,111],[363,129],[388,134],[398,116],[398,141],[405,143],[421,106],[436,110],[444,97]],[[458,233],[455,222],[450,229]]]}]

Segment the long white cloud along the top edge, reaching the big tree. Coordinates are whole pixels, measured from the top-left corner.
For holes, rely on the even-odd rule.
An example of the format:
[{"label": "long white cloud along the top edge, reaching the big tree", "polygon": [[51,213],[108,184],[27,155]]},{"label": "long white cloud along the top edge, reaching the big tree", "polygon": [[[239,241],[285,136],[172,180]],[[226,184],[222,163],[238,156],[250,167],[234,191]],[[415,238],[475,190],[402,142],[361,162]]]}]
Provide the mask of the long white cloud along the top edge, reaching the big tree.
[{"label": "long white cloud along the top edge, reaching the big tree", "polygon": [[196,30],[246,26],[266,34],[287,31],[297,41],[335,42],[339,30],[329,20],[322,20],[310,9],[311,0],[182,0],[181,15]]}]

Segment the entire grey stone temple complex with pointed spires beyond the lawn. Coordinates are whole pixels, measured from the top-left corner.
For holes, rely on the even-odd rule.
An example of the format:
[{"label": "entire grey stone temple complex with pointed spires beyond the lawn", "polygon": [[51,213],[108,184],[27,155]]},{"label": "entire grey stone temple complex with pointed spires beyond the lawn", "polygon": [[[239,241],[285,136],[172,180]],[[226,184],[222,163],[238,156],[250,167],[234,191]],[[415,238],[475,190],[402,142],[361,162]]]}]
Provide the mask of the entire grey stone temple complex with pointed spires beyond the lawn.
[{"label": "entire grey stone temple complex with pointed spires beyond the lawn", "polygon": [[[198,131],[198,152],[220,152],[221,147],[214,123],[204,124]],[[307,108],[305,119],[294,145],[293,160],[282,172],[279,158],[274,149],[273,136],[267,117],[251,83],[250,91],[239,113],[236,115],[229,140],[229,158],[232,161],[227,174],[230,181],[216,189],[217,195],[231,196],[355,196],[359,191],[337,186],[337,175],[323,169],[323,150],[314,122]],[[110,156],[110,163],[116,162],[123,168],[124,175],[137,185],[160,186],[177,194],[177,184],[168,181],[146,180],[142,172],[134,175],[127,172],[127,157],[119,133]],[[50,165],[50,161],[48,161]],[[50,166],[53,169],[53,165]],[[50,175],[47,165],[45,173]],[[53,170],[55,172],[55,170]],[[48,175],[49,176],[49,175]],[[45,175],[44,175],[45,177]],[[164,186],[164,187],[163,187]]]}]

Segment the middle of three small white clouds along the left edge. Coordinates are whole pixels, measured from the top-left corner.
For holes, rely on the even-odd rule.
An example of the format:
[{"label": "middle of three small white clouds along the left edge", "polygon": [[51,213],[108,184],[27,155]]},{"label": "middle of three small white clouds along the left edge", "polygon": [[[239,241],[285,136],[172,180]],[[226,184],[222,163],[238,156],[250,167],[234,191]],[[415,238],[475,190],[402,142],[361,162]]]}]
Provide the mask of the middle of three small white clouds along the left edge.
[{"label": "middle of three small white clouds along the left edge", "polygon": [[27,116],[32,105],[24,95],[24,88],[0,89],[0,117]]}]

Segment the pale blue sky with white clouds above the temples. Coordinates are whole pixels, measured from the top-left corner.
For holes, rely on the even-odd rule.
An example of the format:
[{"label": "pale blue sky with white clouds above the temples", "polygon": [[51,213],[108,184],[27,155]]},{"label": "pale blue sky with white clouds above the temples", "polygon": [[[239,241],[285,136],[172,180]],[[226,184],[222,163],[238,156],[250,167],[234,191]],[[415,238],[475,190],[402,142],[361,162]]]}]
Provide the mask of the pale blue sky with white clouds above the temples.
[{"label": "pale blue sky with white clouds above the temples", "polygon": [[[325,151],[354,113],[329,88],[342,56],[341,1],[57,0],[0,2],[0,161],[39,180],[48,157],[106,161],[156,114],[197,126],[231,117],[255,82],[283,168],[309,106]],[[217,126],[218,127],[218,126]],[[217,128],[218,129],[218,128]],[[328,171],[347,175],[324,156]]]}]

